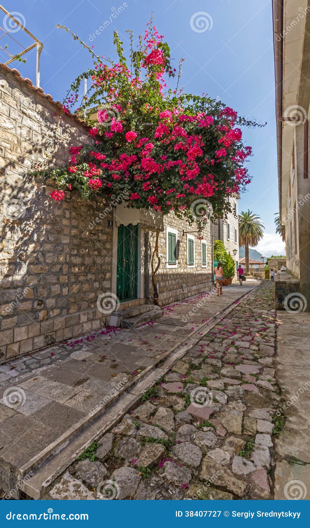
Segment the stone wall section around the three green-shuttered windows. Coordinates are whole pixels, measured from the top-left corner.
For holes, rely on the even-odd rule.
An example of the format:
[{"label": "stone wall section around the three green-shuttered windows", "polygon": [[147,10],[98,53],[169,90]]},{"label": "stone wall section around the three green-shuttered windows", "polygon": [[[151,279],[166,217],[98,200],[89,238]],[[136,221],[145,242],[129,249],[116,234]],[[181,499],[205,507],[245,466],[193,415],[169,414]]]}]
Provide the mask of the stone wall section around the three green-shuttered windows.
[{"label": "stone wall section around the three green-shuttered windows", "polygon": [[[178,265],[175,268],[167,267],[166,237],[167,227],[178,231],[179,255]],[[178,220],[172,213],[164,218],[164,231],[159,238],[159,256],[161,265],[157,272],[157,284],[159,299],[162,305],[185,299],[191,295],[209,291],[213,286],[213,260],[211,243],[211,224],[207,223],[202,232],[202,237],[207,243],[207,267],[201,266],[201,242],[197,238],[195,224],[188,224],[185,220]],[[183,231],[185,234],[183,235]],[[187,265],[187,233],[195,237],[195,267]],[[153,244],[154,234],[150,233]],[[156,259],[155,259],[156,263]],[[150,294],[152,295],[152,284],[150,280]]]}]

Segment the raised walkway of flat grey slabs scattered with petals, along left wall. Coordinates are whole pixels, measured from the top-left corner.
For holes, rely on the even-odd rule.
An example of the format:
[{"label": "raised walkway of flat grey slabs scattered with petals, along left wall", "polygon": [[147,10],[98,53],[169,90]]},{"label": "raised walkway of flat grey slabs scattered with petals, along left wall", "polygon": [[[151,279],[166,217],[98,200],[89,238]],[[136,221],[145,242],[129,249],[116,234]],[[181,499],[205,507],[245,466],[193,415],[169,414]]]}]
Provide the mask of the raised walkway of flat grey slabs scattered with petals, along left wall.
[{"label": "raised walkway of flat grey slabs scattered with petals, along left wall", "polygon": [[[104,328],[0,366],[0,466],[21,468],[51,452],[175,347],[259,283],[164,307],[138,328]],[[202,334],[201,334],[202,335]],[[2,476],[0,472],[0,488]]]}]

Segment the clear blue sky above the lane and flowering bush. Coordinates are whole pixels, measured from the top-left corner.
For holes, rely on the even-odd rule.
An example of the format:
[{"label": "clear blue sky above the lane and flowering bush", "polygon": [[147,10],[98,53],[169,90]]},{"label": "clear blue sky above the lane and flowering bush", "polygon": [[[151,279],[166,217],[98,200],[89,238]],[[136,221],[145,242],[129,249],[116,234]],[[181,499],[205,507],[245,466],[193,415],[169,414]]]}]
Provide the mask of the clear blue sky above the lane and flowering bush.
[{"label": "clear blue sky above the lane and flowering bush", "polygon": [[[265,224],[264,240],[256,249],[265,254],[284,249],[274,226],[278,193],[271,0],[3,0],[3,4],[20,14],[14,16],[23,17],[27,29],[43,42],[41,87],[55,100],[61,100],[71,81],[91,65],[90,54],[56,24],[66,25],[94,45],[97,54],[114,58],[113,30],[119,32],[126,50],[125,30],[132,29],[137,36],[143,33],[153,11],[176,67],[180,58],[185,59],[181,85],[187,92],[207,92],[240,115],[267,121],[262,129],[244,130],[247,144],[253,147],[248,164],[253,181],[241,196],[239,212],[249,208]],[[116,15],[114,8],[120,6],[123,11]],[[205,20],[201,25],[199,16]],[[29,45],[31,41],[21,33],[13,36]],[[0,56],[3,62],[4,55]],[[27,54],[26,64],[15,62],[11,67],[34,82],[35,52]]]}]

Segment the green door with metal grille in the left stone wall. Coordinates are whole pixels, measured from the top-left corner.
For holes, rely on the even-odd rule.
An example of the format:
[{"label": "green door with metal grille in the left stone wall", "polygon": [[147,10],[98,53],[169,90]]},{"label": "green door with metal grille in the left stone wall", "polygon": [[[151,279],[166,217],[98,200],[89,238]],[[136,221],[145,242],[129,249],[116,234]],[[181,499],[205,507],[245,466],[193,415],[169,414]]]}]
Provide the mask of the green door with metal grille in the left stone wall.
[{"label": "green door with metal grille in the left stone wall", "polygon": [[125,301],[138,297],[138,225],[118,228],[117,296]]}]

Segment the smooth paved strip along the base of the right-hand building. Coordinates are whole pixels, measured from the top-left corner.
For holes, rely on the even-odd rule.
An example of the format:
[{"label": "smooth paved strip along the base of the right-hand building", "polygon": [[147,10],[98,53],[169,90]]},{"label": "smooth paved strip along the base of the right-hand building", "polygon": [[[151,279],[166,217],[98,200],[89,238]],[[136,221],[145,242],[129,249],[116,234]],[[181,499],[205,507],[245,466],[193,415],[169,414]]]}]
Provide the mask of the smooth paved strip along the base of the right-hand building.
[{"label": "smooth paved strip along the base of the right-hand building", "polygon": [[275,442],[275,498],[285,499],[288,495],[309,500],[310,314],[284,311],[278,312],[277,318],[275,366],[286,421]]}]

